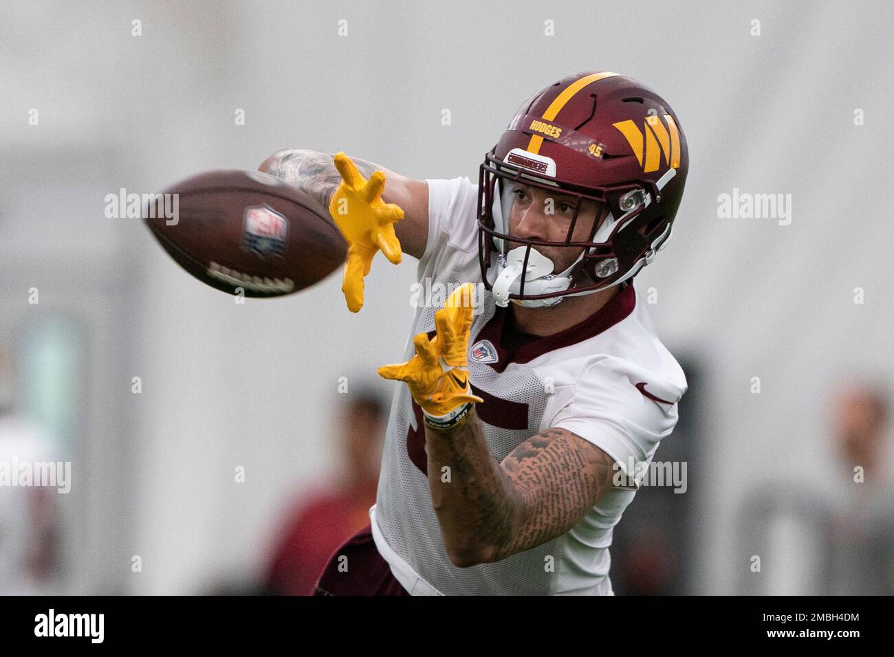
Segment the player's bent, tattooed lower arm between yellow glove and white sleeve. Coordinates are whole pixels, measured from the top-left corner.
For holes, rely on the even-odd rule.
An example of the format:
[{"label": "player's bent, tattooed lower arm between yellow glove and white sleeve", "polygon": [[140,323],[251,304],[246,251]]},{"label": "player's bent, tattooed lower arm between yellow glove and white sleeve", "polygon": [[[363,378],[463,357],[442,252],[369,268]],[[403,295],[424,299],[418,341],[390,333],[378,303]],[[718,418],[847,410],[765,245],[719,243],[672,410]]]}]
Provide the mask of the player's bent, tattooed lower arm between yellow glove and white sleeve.
[{"label": "player's bent, tattooed lower arm between yellow glove and white sleeve", "polygon": [[426,450],[444,546],[460,566],[505,559],[564,534],[611,485],[611,457],[563,429],[529,438],[500,464],[473,417],[448,435],[426,429]]}]

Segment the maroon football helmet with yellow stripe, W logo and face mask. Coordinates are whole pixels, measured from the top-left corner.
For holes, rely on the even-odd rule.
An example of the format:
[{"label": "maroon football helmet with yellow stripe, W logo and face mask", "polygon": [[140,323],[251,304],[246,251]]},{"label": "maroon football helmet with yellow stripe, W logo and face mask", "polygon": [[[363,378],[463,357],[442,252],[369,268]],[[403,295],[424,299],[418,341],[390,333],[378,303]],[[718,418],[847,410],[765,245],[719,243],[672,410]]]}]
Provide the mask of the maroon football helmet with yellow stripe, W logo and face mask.
[{"label": "maroon football helmet with yellow stripe, W logo and face mask", "polygon": [[[671,237],[688,166],[677,115],[637,80],[585,72],[537,92],[481,164],[478,258],[485,286],[501,306],[510,299],[551,306],[628,281]],[[510,235],[505,191],[519,183],[577,199],[565,240]],[[592,220],[592,228],[586,240],[578,230],[572,241],[581,199],[595,202],[597,216],[581,219]],[[553,272],[537,247],[574,249],[577,259]]]}]

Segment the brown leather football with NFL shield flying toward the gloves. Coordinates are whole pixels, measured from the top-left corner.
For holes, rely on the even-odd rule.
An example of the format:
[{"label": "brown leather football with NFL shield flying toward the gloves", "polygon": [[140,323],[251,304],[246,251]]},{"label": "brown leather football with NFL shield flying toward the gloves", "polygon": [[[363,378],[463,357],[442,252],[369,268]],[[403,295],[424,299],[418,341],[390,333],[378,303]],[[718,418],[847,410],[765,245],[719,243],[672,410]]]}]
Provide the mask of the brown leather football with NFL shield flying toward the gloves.
[{"label": "brown leather football with NFL shield flying toward the gloves", "polygon": [[186,271],[218,290],[279,297],[344,263],[347,247],[328,215],[307,192],[268,173],[199,173],[163,194],[171,196],[156,195],[143,208],[149,229]]}]

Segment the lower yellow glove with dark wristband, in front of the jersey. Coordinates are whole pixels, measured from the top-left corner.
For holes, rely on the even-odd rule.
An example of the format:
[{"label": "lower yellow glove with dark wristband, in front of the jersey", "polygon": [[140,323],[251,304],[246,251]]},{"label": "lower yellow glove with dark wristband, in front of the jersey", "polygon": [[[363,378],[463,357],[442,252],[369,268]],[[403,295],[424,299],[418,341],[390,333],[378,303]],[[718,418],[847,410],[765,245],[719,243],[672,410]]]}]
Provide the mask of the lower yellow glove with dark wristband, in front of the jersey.
[{"label": "lower yellow glove with dark wristband, in front of the jersey", "polygon": [[422,408],[426,424],[435,429],[459,425],[471,410],[468,402],[481,402],[468,384],[468,332],[472,326],[472,283],[454,291],[444,307],[434,313],[437,334],[413,338],[416,355],[400,365],[379,367],[386,379],[405,381]]}]

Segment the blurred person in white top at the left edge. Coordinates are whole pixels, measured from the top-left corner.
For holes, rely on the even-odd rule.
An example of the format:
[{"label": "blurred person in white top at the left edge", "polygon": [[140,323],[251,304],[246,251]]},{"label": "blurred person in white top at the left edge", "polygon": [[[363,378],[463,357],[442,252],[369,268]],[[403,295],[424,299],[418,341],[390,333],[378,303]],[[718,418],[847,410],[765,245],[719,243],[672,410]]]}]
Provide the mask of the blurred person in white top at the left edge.
[{"label": "blurred person in white top at the left edge", "polygon": [[55,488],[11,485],[15,463],[54,460],[52,442],[16,412],[13,365],[0,347],[0,594],[54,593]]}]

